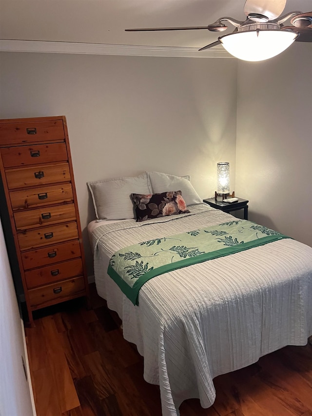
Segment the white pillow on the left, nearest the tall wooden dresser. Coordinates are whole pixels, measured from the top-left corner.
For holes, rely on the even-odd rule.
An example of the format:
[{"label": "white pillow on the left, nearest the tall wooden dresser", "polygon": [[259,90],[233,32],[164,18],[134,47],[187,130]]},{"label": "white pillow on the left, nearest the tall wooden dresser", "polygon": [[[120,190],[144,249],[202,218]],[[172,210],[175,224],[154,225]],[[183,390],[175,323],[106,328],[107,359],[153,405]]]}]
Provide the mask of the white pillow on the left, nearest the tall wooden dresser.
[{"label": "white pillow on the left, nearest the tall wooden dresser", "polygon": [[87,183],[98,219],[131,219],[135,211],[130,194],[152,194],[147,173],[133,178],[98,180]]}]

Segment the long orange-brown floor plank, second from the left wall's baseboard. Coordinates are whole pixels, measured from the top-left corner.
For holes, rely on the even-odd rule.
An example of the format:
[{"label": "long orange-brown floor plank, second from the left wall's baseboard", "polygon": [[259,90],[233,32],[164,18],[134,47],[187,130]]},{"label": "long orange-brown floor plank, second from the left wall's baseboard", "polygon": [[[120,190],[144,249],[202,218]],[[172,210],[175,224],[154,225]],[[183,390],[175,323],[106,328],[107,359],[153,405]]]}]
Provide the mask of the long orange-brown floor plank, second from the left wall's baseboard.
[{"label": "long orange-brown floor plank, second from the left wall's baseboard", "polygon": [[54,381],[58,386],[56,393],[59,398],[60,410],[61,412],[66,412],[80,405],[76,388],[53,317],[43,317],[41,322],[46,353],[51,365]]}]

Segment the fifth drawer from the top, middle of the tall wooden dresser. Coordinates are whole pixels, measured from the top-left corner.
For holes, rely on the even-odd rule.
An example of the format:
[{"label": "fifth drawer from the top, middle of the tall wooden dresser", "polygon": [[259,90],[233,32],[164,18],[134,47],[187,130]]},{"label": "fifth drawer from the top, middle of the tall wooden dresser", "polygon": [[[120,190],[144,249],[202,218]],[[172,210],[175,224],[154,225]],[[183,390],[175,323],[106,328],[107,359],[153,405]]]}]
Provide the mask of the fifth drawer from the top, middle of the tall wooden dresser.
[{"label": "fifth drawer from the top, middle of the tall wooden dresser", "polygon": [[14,219],[16,228],[20,231],[26,228],[45,226],[47,224],[73,221],[76,219],[76,210],[74,204],[66,204],[17,212],[14,214]]}]

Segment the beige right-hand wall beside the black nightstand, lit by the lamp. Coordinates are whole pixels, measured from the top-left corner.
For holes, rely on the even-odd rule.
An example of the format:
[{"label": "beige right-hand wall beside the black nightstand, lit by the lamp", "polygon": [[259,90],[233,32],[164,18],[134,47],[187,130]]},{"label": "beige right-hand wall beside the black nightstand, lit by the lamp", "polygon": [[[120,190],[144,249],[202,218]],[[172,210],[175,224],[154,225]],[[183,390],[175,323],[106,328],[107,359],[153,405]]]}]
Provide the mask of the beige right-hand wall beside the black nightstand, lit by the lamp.
[{"label": "beige right-hand wall beside the black nightstand, lit by the lamp", "polygon": [[240,61],[237,195],[250,219],[312,246],[312,44]]}]

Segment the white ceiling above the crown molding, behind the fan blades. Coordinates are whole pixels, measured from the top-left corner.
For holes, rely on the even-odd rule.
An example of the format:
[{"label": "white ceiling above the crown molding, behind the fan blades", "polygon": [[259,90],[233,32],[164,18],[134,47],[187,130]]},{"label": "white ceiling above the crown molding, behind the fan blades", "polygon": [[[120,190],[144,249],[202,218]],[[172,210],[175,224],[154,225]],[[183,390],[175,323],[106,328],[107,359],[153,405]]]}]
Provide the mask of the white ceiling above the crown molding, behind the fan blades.
[{"label": "white ceiling above the crown molding, behind the fan blades", "polygon": [[[244,20],[244,3],[245,0],[0,0],[0,38],[200,48],[220,35],[208,30],[124,29],[205,26],[221,16]],[[311,11],[312,0],[288,0],[285,12],[292,10]],[[231,31],[233,27],[228,29]]]}]

